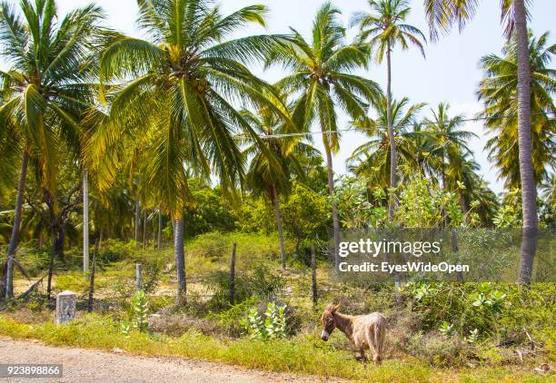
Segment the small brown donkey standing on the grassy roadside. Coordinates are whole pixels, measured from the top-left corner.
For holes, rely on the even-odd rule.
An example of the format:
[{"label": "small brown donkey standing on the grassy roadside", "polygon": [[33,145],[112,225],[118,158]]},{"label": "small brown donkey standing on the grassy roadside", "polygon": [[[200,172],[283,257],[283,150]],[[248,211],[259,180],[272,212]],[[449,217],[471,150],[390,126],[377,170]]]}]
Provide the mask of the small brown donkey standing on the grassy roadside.
[{"label": "small brown donkey standing on the grassy roadside", "polygon": [[329,305],[324,309],[323,334],[321,338],[326,341],[334,329],[339,329],[349,339],[350,348],[360,353],[357,360],[367,361],[365,349],[372,350],[372,360],[376,364],[382,362],[382,346],[386,336],[386,319],[380,312],[368,315],[345,315],[338,312],[338,305]]}]

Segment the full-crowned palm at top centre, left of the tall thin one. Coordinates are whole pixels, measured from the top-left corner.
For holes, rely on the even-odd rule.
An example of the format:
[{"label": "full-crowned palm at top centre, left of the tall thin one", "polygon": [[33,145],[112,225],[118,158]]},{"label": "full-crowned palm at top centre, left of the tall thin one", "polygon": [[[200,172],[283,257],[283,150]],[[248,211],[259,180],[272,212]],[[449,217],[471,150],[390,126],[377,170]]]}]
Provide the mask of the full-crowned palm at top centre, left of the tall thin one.
[{"label": "full-crowned palm at top centre, left of the tall thin one", "polygon": [[[367,103],[381,94],[377,83],[352,74],[364,68],[368,51],[362,43],[344,44],[345,28],[338,21],[340,11],[324,3],[313,21],[311,42],[292,29],[290,44],[272,54],[267,65],[282,64],[290,72],[276,86],[286,94],[293,94],[293,120],[297,126],[310,129],[319,123],[323,133],[324,152],[328,171],[328,190],[334,193],[333,153],[339,150],[337,112],[343,110],[352,119],[364,118]],[[334,262],[339,262],[340,220],[333,202]]]}]

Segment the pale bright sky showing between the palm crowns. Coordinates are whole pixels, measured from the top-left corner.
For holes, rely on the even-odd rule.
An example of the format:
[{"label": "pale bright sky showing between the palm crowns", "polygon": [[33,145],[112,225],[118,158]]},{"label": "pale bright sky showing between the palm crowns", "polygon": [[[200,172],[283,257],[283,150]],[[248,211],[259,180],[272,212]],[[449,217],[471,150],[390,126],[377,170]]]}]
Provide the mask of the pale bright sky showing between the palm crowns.
[{"label": "pale bright sky showing between the palm crowns", "polygon": [[[58,0],[60,14],[90,2],[90,0]],[[112,27],[127,34],[140,35],[134,23],[137,11],[135,0],[94,0],[94,3],[104,8],[108,15],[108,23]],[[323,1],[222,0],[219,3],[223,13],[253,4],[263,4],[270,8],[267,30],[253,28],[245,31],[248,34],[283,34],[288,32],[289,26],[293,26],[307,36],[311,30],[313,16]],[[419,27],[427,34],[422,0],[412,0],[410,3],[412,14],[408,17],[408,24]],[[346,25],[353,12],[367,9],[366,0],[335,0],[333,4],[342,10]],[[555,16],[556,0],[532,1],[530,27],[535,35],[550,31],[549,44],[553,44],[556,39]],[[503,43],[500,0],[483,0],[474,20],[467,25],[462,34],[457,30],[453,31],[452,34],[442,37],[438,43],[428,44],[425,47],[426,59],[423,59],[422,55],[414,49],[409,52],[394,52],[392,55],[394,97],[407,96],[412,103],[428,103],[422,113],[424,116],[429,114],[430,107],[441,102],[449,102],[452,105],[452,113],[463,113],[472,117],[481,109],[475,95],[477,84],[481,79],[481,71],[477,63],[484,54],[500,54]],[[366,75],[373,81],[381,83],[382,86],[385,85],[385,65],[373,64]],[[270,82],[279,76],[280,73],[275,70],[263,74],[263,77]],[[344,118],[341,126],[348,127]],[[481,163],[481,173],[491,184],[492,190],[502,191],[502,182],[497,181],[496,169],[491,167],[486,152],[482,151],[486,138],[482,134],[481,123],[467,123],[465,128],[481,136],[480,139],[469,142],[470,147],[475,152],[476,160]],[[345,159],[362,143],[362,138],[360,133],[343,134],[342,149],[334,159],[336,172],[346,172]],[[319,142],[321,142],[320,137],[315,137],[317,146]]]}]

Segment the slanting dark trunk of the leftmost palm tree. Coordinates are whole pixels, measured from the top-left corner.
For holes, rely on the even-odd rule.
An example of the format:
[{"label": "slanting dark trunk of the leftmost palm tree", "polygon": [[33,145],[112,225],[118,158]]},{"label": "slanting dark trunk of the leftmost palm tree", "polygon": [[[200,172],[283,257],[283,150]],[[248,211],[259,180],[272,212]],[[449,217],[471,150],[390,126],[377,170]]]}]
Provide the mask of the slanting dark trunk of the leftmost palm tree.
[{"label": "slanting dark trunk of the leftmost palm tree", "polygon": [[21,212],[23,210],[23,194],[25,191],[25,177],[27,175],[27,165],[29,163],[29,153],[26,148],[21,156],[21,171],[19,172],[19,182],[17,183],[17,196],[15,197],[14,226],[12,236],[8,245],[7,267],[5,272],[5,299],[9,300],[14,296],[14,259],[15,250],[19,244],[19,227],[21,226]]}]

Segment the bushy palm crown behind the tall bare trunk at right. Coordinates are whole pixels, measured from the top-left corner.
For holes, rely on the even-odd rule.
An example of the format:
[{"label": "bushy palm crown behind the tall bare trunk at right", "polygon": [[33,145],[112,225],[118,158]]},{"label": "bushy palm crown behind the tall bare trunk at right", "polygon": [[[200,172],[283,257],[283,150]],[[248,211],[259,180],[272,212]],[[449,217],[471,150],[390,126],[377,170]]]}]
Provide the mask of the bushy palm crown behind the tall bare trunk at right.
[{"label": "bushy palm crown behind the tall bare trunk at right", "polygon": [[[556,71],[548,68],[556,44],[547,47],[549,34],[536,39],[530,35],[529,62],[531,66],[531,142],[535,185],[554,169],[554,132],[556,113],[553,95],[556,92]],[[503,56],[488,54],[480,65],[485,77],[479,85],[478,96],[484,104],[483,117],[487,129],[494,133],[486,144],[489,158],[496,163],[499,175],[505,178],[508,190],[520,188],[518,143],[518,63],[517,44],[512,38],[504,47]]]}]

